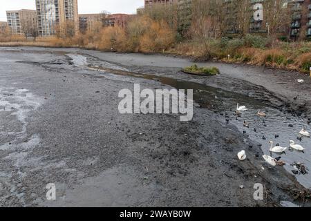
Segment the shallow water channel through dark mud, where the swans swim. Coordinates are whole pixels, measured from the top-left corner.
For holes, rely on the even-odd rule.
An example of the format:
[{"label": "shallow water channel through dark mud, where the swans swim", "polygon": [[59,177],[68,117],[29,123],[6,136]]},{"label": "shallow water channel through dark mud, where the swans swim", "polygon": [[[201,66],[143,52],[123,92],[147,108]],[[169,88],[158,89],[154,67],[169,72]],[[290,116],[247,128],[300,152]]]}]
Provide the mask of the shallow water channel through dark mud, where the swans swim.
[{"label": "shallow water channel through dark mud, where the swans swim", "polygon": [[[73,59],[75,63],[75,59]],[[194,100],[201,108],[208,108],[214,111],[218,115],[218,119],[223,124],[234,124],[241,133],[245,133],[245,138],[249,136],[251,140],[254,140],[262,145],[263,152],[270,155],[269,141],[273,141],[274,145],[288,147],[289,141],[294,140],[296,144],[301,144],[306,150],[305,153],[296,151],[286,151],[281,155],[281,160],[285,164],[285,169],[290,173],[294,170],[290,164],[293,162],[300,162],[304,164],[308,169],[311,169],[311,152],[309,150],[311,146],[311,139],[308,137],[302,137],[302,140],[298,140],[299,131],[305,128],[307,131],[311,131],[311,126],[307,124],[307,120],[301,117],[296,117],[290,113],[280,111],[276,108],[272,108],[258,102],[256,99],[252,99],[245,95],[238,93],[221,90],[211,86],[205,86],[204,84],[198,84],[191,81],[183,81],[179,79],[173,79],[169,77],[159,77],[156,75],[147,75],[142,73],[132,73],[124,68],[104,62],[102,66],[84,65],[89,70],[100,71],[105,75],[123,75],[128,77],[140,77],[143,79],[151,79],[160,81],[162,84],[172,86],[176,89],[193,89]],[[106,64],[107,63],[107,64]],[[77,62],[77,65],[79,62]],[[235,114],[236,104],[241,106],[245,105],[248,111],[238,117]],[[258,117],[256,114],[258,110],[261,110],[267,114],[267,117]],[[249,124],[249,128],[243,126],[243,122],[246,121]],[[292,124],[292,127],[289,125]],[[265,137],[265,140],[263,139]],[[250,148],[252,148],[250,146]],[[273,154],[273,157],[279,155]],[[311,187],[311,171],[308,174],[296,175],[297,180],[303,184],[306,188]]]}]

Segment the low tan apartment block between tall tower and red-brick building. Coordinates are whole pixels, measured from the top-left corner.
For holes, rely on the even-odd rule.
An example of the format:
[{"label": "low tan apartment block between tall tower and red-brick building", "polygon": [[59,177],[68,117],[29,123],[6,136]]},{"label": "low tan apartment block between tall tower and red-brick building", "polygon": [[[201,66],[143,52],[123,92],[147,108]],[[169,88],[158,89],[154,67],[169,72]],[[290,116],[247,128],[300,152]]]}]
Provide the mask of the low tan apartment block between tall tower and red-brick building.
[{"label": "low tan apartment block between tall tower and red-brick building", "polygon": [[98,26],[103,26],[106,15],[102,14],[81,14],[79,15],[79,31],[85,33],[94,30]]}]

